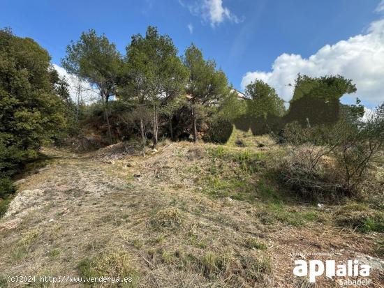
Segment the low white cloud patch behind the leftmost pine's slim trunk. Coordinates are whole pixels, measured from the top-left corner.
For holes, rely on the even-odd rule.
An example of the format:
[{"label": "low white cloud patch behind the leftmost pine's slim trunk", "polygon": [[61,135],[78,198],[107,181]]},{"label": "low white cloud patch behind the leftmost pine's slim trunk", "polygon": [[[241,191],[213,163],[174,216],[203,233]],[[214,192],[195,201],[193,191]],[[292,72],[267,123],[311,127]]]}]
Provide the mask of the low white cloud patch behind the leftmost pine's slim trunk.
[{"label": "low white cloud patch behind the leftmost pine's slim trunk", "polygon": [[[66,78],[66,81],[68,82],[68,90],[69,94],[71,95],[72,100],[77,103],[77,88],[79,84],[79,78],[77,78],[75,75],[68,74],[66,70],[56,64],[53,64],[54,69],[57,70],[57,73],[59,73],[59,77],[61,79],[63,77]],[[98,98],[98,91],[97,89],[94,89],[89,82],[82,81],[80,85],[80,91],[81,91],[81,99],[84,101],[84,103],[91,103],[96,98]]]}]

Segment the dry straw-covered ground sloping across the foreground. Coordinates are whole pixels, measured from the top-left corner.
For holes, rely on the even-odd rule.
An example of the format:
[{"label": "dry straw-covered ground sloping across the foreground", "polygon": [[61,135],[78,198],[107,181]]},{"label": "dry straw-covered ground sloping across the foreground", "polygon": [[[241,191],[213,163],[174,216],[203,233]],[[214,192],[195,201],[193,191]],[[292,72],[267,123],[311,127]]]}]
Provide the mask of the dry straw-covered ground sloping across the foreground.
[{"label": "dry straw-covered ground sloping across the foreground", "polygon": [[[257,197],[256,203],[212,197],[200,181],[212,162],[207,147],[163,144],[145,158],[121,144],[79,155],[45,149],[52,161],[27,176],[19,190],[29,191],[0,220],[0,287],[27,287],[7,282],[10,275],[108,273],[131,273],[128,287],[343,287],[324,276],[316,285],[295,277],[295,259],[360,259],[374,266],[369,287],[384,287],[376,252],[382,234],[317,219],[266,222]],[[30,286],[85,285],[48,284]]]}]

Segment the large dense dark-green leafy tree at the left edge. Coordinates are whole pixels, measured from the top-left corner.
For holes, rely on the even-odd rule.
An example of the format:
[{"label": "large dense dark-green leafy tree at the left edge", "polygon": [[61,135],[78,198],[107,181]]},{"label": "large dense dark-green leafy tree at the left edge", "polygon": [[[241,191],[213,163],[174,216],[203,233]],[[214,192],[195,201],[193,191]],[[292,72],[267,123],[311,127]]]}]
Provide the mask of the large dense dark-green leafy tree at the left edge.
[{"label": "large dense dark-green leafy tree at the left edge", "polygon": [[50,55],[31,38],[0,30],[0,179],[2,194],[22,165],[67,131],[68,93]]}]

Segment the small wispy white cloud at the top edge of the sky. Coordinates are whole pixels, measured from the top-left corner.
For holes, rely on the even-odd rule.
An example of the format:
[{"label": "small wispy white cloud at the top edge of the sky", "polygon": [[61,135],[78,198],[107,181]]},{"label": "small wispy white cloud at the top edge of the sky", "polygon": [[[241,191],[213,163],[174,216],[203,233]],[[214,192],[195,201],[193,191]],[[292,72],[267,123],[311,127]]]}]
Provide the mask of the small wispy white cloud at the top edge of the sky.
[{"label": "small wispy white cloud at the top edge of the sky", "polygon": [[184,1],[179,0],[179,3],[189,8],[193,15],[202,17],[202,20],[209,22],[212,27],[219,25],[225,20],[230,22],[239,23],[242,20],[230,12],[227,7],[223,6],[223,0],[199,0],[192,4],[185,4]]}]

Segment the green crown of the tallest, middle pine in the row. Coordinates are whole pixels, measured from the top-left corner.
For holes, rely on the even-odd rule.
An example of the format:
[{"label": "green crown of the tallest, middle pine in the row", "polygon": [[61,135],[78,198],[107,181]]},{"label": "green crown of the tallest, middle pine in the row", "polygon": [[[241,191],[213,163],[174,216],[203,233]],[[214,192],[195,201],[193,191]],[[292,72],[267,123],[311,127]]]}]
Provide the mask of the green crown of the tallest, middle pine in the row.
[{"label": "green crown of the tallest, middle pine in the row", "polygon": [[126,47],[123,81],[125,96],[130,100],[159,105],[161,98],[182,94],[187,77],[188,70],[177,56],[170,36],[160,35],[154,26],[148,27],[145,37],[132,36]]}]

